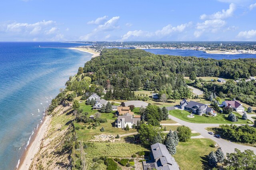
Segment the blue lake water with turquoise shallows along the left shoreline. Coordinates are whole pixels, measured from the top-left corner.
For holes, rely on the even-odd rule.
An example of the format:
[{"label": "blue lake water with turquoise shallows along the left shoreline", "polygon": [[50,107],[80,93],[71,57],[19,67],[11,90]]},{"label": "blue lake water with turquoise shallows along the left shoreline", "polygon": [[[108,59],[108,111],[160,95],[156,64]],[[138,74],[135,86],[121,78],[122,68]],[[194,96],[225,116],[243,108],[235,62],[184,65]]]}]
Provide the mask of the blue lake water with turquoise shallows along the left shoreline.
[{"label": "blue lake water with turquoise shallows along the left shoreline", "polygon": [[91,59],[63,48],[79,45],[0,42],[0,170],[16,168],[51,99]]}]

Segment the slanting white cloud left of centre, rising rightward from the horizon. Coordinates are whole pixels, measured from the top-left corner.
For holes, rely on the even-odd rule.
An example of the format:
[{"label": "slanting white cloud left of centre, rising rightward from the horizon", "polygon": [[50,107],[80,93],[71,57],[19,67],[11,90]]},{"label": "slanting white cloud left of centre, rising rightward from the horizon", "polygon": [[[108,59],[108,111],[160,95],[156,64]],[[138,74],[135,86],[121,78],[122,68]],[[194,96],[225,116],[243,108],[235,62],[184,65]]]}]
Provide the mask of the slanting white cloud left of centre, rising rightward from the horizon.
[{"label": "slanting white cloud left of centre, rising rightward from the horizon", "polygon": [[86,34],[85,36],[80,36],[80,40],[88,41],[88,40],[90,40],[90,38],[92,38],[92,36],[95,36],[96,34],[99,34],[102,32],[110,32],[110,31],[118,29],[119,26],[117,23],[118,23],[119,18],[120,18],[119,16],[112,17],[110,20],[107,20],[106,22],[104,22],[104,24],[98,25],[89,34]]}]

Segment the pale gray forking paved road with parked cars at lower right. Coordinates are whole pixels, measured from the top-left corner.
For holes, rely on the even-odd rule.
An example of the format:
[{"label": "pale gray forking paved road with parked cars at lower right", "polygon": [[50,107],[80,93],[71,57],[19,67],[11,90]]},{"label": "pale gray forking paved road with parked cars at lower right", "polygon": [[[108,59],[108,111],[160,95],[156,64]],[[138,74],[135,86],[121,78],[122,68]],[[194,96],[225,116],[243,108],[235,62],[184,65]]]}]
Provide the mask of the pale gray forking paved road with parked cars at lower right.
[{"label": "pale gray forking paved road with parked cars at lower right", "polygon": [[250,149],[253,150],[254,153],[256,154],[256,148],[255,147],[251,147],[251,146],[244,146],[241,144],[235,144],[233,142],[229,142],[227,140],[224,140],[222,138],[218,139],[216,137],[214,137],[211,134],[208,134],[208,131],[205,130],[205,128],[207,127],[218,127],[220,124],[201,124],[201,123],[189,123],[186,121],[182,121],[172,115],[169,115],[169,118],[180,123],[181,125],[185,125],[189,128],[191,128],[191,130],[195,130],[196,132],[200,133],[201,136],[205,137],[205,138],[210,138],[212,140],[214,140],[221,148],[222,151],[226,154],[226,153],[232,153],[234,152],[235,148],[238,148],[241,151],[244,151],[245,149]]}]

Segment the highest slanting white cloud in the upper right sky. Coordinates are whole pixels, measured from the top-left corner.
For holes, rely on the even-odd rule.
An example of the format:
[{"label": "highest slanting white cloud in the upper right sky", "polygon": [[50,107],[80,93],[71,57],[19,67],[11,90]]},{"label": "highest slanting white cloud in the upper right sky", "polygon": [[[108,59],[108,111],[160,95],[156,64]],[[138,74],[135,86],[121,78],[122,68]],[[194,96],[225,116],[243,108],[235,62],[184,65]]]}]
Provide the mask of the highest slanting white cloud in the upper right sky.
[{"label": "highest slanting white cloud in the upper right sky", "polygon": [[206,19],[211,19],[211,20],[216,20],[216,19],[224,19],[224,18],[229,18],[234,14],[234,11],[236,10],[236,5],[231,3],[229,5],[229,8],[227,10],[222,10],[221,12],[216,12],[214,14],[211,15],[206,15],[206,14],[202,14],[200,16],[201,20],[206,20]]}]

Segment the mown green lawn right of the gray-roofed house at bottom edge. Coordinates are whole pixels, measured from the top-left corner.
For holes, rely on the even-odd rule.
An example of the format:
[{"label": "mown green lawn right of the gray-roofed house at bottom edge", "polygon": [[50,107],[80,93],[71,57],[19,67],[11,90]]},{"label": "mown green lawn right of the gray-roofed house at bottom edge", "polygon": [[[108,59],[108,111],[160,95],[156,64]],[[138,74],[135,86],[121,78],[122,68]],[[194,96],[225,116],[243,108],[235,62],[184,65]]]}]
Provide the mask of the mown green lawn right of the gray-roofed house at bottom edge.
[{"label": "mown green lawn right of the gray-roofed house at bottom edge", "polygon": [[207,155],[216,150],[210,147],[214,141],[207,138],[190,139],[187,142],[179,142],[174,155],[182,170],[210,169]]}]

